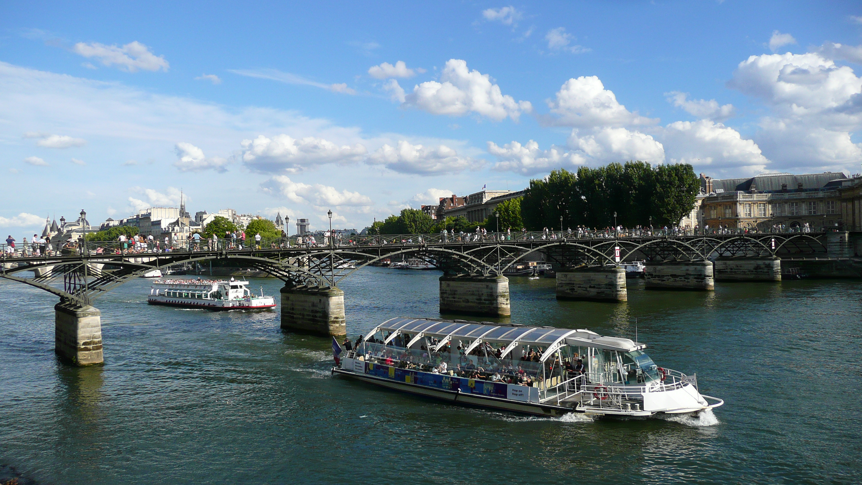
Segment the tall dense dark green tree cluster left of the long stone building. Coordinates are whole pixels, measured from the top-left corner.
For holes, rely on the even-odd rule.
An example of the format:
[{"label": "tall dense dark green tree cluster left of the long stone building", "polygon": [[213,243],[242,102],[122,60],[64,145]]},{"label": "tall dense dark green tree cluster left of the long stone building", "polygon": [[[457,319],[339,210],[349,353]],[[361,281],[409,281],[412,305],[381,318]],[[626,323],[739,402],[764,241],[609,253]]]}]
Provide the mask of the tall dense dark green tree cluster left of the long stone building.
[{"label": "tall dense dark green tree cluster left of the long stone building", "polygon": [[[577,173],[554,170],[545,179],[530,180],[521,202],[529,230],[580,224],[626,227],[678,224],[694,207],[700,182],[688,164],[652,167],[643,161],[580,167]],[[614,217],[616,213],[616,217]],[[501,221],[502,227],[502,221]]]}]

